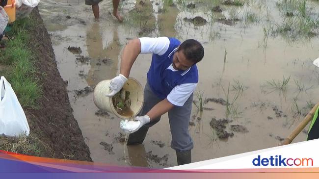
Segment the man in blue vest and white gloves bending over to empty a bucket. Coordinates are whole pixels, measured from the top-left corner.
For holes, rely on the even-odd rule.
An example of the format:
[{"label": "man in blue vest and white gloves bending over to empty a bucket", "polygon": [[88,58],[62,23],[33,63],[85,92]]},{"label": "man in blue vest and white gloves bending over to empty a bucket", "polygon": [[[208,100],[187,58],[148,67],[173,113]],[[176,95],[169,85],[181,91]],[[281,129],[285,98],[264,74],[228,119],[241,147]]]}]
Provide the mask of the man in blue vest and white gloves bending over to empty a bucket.
[{"label": "man in blue vest and white gloves bending over to empty a bucket", "polygon": [[126,83],[139,53],[152,53],[152,62],[144,88],[141,112],[133,120],[136,128],[120,127],[131,133],[127,145],[142,144],[148,129],[168,112],[172,135],[171,148],[176,151],[177,164],[191,163],[193,140],[188,132],[193,92],[198,83],[196,63],[204,57],[203,46],[194,39],[181,43],[175,38],[136,38],[125,46],[121,56],[120,74],[110,81],[114,96]]}]

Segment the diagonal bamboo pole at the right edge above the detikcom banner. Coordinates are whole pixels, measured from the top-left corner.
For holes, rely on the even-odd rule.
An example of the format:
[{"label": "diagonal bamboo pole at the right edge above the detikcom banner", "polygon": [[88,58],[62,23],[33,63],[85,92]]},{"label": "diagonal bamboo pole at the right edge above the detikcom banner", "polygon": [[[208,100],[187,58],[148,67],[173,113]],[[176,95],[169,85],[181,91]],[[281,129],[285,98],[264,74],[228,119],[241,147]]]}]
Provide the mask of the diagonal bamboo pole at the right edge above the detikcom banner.
[{"label": "diagonal bamboo pole at the right edge above the detikcom banner", "polygon": [[311,109],[307,116],[300,122],[300,124],[292,131],[292,133],[280,144],[280,146],[290,144],[292,140],[300,133],[300,131],[307,126],[312,120],[314,114],[319,106],[319,102]]}]

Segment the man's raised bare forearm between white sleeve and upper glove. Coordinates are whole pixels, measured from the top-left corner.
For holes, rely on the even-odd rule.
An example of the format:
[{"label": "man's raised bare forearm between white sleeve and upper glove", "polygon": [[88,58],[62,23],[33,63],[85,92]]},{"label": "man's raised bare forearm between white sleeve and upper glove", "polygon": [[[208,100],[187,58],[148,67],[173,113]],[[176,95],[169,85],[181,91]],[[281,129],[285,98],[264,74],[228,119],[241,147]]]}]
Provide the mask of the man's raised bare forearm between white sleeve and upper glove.
[{"label": "man's raised bare forearm between white sleeve and upper glove", "polygon": [[120,74],[125,77],[130,76],[130,71],[138,54],[141,52],[141,42],[138,38],[130,40],[125,46],[121,56]]}]

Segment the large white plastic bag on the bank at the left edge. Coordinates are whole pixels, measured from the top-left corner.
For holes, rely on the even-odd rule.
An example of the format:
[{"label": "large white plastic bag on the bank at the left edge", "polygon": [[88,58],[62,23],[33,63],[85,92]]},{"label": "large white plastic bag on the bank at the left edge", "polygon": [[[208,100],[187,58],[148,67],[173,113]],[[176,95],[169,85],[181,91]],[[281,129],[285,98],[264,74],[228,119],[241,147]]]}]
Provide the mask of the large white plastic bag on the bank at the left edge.
[{"label": "large white plastic bag on the bank at the left edge", "polygon": [[11,84],[0,79],[0,134],[8,136],[29,135],[30,128]]}]

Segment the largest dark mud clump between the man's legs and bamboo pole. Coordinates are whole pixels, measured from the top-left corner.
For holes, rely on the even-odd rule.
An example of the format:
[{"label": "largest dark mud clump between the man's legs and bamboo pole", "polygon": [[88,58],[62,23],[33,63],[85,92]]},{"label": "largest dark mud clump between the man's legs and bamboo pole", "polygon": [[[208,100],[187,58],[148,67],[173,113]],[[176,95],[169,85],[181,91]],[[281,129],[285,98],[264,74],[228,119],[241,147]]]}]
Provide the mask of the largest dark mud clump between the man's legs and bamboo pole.
[{"label": "largest dark mud clump between the man's legs and bamboo pole", "polygon": [[231,121],[227,119],[220,119],[216,120],[215,118],[212,118],[212,121],[210,122],[210,126],[216,130],[217,136],[219,139],[227,139],[228,137],[233,137],[234,133],[225,131],[226,124],[230,123]]}]

